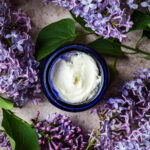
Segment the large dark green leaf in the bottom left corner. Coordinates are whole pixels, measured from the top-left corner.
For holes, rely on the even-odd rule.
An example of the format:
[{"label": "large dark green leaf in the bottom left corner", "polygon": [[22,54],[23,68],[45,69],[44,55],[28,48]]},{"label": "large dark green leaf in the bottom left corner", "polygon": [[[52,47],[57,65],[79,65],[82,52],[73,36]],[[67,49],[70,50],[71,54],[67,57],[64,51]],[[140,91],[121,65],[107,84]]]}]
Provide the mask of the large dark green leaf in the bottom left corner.
[{"label": "large dark green leaf in the bottom left corner", "polygon": [[13,150],[40,150],[35,129],[5,109],[2,126],[9,136]]}]

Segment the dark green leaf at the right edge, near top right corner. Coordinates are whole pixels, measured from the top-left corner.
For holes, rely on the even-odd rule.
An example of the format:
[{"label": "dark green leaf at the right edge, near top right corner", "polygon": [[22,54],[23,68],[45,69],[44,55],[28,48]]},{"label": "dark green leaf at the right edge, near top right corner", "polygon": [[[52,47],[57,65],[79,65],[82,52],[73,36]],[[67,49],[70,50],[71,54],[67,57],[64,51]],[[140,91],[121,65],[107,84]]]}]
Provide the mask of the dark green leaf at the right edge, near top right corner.
[{"label": "dark green leaf at the right edge, near top right corner", "polygon": [[144,14],[140,11],[134,11],[132,14],[131,20],[133,21],[134,25],[132,30],[144,30],[147,27],[150,27],[150,15]]}]

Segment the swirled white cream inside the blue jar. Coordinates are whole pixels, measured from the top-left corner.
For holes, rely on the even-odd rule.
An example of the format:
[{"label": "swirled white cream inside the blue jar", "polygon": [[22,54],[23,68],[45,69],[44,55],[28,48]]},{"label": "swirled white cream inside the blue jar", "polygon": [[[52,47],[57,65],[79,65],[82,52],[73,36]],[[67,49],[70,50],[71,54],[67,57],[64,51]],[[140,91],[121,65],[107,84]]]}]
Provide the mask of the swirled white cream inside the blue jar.
[{"label": "swirled white cream inside the blue jar", "polygon": [[101,82],[95,60],[86,53],[72,53],[54,64],[51,79],[59,96],[69,103],[90,99]]}]

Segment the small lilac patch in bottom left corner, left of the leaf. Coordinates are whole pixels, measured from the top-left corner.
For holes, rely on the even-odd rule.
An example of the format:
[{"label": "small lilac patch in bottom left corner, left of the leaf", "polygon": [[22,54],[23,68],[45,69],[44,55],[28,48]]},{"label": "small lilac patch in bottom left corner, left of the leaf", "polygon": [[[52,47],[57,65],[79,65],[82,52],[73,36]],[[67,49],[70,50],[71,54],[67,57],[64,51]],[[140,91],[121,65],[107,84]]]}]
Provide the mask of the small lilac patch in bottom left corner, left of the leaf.
[{"label": "small lilac patch in bottom left corner, left of the leaf", "polygon": [[9,139],[5,133],[0,134],[0,147],[4,147],[7,150],[12,150]]}]

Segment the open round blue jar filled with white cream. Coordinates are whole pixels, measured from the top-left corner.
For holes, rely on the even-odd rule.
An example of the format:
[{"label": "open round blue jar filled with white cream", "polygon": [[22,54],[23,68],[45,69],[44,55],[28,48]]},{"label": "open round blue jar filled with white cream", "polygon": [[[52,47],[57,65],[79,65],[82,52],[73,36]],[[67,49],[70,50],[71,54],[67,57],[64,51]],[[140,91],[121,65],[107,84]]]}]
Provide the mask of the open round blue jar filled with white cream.
[{"label": "open round blue jar filled with white cream", "polygon": [[85,45],[69,45],[46,59],[42,85],[48,100],[66,111],[83,111],[104,95],[109,81],[107,64]]}]

